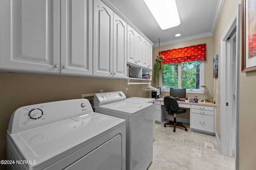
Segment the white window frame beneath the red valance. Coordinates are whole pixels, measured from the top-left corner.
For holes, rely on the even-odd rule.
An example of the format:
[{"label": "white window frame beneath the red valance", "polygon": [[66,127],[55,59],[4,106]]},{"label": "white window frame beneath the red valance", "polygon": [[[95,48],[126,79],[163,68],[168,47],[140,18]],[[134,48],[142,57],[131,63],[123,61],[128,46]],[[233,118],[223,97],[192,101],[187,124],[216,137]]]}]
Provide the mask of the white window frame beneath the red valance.
[{"label": "white window frame beneath the red valance", "polygon": [[[204,94],[204,60],[200,60],[200,88],[199,89],[186,89],[186,93],[194,93],[194,94]],[[178,65],[178,87],[181,88],[181,64]],[[162,83],[162,75],[159,75],[159,87],[161,87],[161,92],[170,92],[170,88],[164,88]]]}]

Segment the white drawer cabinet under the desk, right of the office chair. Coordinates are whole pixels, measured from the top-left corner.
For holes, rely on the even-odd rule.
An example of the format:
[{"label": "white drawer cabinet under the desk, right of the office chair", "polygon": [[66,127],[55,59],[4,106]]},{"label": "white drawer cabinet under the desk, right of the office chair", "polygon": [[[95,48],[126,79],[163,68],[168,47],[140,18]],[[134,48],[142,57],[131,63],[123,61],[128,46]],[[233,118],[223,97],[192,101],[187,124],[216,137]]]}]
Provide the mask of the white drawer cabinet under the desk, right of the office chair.
[{"label": "white drawer cabinet under the desk, right of the office chair", "polygon": [[215,107],[191,105],[190,128],[193,131],[215,135]]}]

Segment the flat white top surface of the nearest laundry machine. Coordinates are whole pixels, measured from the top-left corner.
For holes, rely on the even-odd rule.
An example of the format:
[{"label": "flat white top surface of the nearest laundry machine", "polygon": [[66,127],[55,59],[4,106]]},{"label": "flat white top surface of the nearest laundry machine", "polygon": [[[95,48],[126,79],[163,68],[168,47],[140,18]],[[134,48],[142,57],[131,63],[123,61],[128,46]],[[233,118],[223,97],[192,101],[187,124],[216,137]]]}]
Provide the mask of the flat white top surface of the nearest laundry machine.
[{"label": "flat white top surface of the nearest laundry machine", "polygon": [[42,169],[124,124],[124,119],[94,112],[79,121],[67,119],[19,133],[7,133],[7,137],[21,160],[35,160],[36,164],[30,166]]}]

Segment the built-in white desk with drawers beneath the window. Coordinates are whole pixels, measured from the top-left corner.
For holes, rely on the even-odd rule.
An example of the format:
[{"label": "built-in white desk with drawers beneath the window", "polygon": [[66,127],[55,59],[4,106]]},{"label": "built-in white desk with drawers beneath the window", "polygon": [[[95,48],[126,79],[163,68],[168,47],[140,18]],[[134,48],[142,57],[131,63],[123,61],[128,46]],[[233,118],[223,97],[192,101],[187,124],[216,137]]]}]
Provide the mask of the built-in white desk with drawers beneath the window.
[{"label": "built-in white desk with drawers beneath the window", "polygon": [[[190,129],[201,133],[215,135],[216,132],[216,104],[198,102],[193,103],[186,100],[178,101],[179,107],[190,109]],[[162,123],[166,119],[164,98],[158,98],[155,102],[156,123]]]}]

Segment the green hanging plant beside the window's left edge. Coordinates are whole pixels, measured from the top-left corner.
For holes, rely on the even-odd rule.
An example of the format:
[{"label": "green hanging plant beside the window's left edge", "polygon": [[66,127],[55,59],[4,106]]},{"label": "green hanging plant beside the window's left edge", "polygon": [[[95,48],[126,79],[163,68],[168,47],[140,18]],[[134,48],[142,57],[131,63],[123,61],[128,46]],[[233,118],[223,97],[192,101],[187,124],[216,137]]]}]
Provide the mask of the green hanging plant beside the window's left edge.
[{"label": "green hanging plant beside the window's left edge", "polygon": [[164,56],[161,55],[161,53],[158,53],[158,55],[156,56],[156,60],[155,60],[154,66],[153,66],[154,83],[156,82],[156,80],[159,79],[159,73],[162,75],[162,80],[164,79],[164,76],[163,76],[164,75],[164,64],[162,64],[163,58],[164,58]]}]

